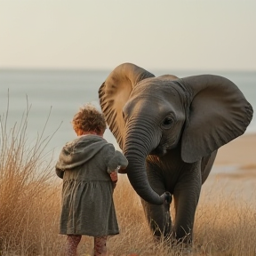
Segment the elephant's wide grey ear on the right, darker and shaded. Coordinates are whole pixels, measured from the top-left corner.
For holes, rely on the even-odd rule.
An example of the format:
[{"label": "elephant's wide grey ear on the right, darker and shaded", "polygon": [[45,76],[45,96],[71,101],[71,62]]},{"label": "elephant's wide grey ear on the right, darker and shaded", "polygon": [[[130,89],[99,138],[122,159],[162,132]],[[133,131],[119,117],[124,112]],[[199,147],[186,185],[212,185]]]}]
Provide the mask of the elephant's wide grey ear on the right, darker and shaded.
[{"label": "elephant's wide grey ear on the right, darker and shaded", "polygon": [[222,76],[189,76],[179,80],[188,92],[181,157],[194,163],[242,135],[252,120],[252,106],[244,94]]}]

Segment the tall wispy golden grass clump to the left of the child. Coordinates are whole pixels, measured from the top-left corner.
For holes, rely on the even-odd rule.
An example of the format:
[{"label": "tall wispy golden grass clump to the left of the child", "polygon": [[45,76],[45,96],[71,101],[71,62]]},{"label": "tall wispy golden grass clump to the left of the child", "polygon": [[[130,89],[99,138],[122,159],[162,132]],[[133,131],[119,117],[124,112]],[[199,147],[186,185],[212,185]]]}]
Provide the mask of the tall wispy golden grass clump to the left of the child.
[{"label": "tall wispy golden grass clump to the left of the child", "polygon": [[53,152],[46,150],[54,132],[44,136],[51,111],[29,140],[28,106],[12,127],[8,109],[0,116],[0,255],[54,255],[60,189],[52,186]]}]

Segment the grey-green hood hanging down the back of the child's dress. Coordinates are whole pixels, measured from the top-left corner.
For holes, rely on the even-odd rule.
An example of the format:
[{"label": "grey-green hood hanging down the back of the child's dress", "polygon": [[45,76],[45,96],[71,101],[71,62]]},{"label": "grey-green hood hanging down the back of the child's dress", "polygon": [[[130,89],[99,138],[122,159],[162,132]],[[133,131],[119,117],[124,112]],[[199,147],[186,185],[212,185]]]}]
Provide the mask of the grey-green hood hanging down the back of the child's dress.
[{"label": "grey-green hood hanging down the back of the child's dress", "polygon": [[56,168],[66,170],[84,164],[105,146],[108,146],[108,142],[100,136],[80,136],[62,148]]}]

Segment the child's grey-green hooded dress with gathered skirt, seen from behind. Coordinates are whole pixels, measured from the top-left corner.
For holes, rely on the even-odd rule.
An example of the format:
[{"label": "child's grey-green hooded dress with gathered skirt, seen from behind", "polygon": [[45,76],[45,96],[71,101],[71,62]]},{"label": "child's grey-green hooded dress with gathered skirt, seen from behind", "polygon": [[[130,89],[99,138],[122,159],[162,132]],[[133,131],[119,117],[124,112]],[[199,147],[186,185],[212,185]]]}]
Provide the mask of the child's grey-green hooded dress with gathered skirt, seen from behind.
[{"label": "child's grey-green hooded dress with gathered skirt, seen from behind", "polygon": [[60,234],[119,233],[109,163],[111,169],[128,164],[112,144],[97,135],[80,136],[62,148],[56,164],[56,173],[63,179]]}]

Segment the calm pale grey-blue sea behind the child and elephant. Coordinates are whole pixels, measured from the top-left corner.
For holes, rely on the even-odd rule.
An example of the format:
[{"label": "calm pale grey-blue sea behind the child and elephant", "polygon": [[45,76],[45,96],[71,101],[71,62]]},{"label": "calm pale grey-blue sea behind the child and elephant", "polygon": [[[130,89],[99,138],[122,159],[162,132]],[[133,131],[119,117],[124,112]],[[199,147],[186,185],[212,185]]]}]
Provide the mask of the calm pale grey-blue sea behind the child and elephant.
[{"label": "calm pale grey-blue sea behind the child and elephant", "polygon": [[[170,74],[164,70],[150,71],[156,76]],[[256,72],[209,73],[225,76],[233,81],[244,92],[255,111]],[[43,131],[52,109],[44,137],[51,136],[60,126],[47,146],[49,150],[56,148],[59,154],[59,149],[68,140],[75,138],[70,124],[72,117],[84,103],[91,101],[97,104],[98,89],[108,74],[108,70],[0,70],[0,114],[2,118],[5,116],[9,99],[8,126],[11,128],[15,122],[20,122],[28,102],[28,139],[36,140],[36,134]],[[172,74],[184,77],[202,73],[179,71]],[[256,132],[255,116],[246,132]],[[105,138],[113,143],[116,141],[109,131],[105,133]]]}]

